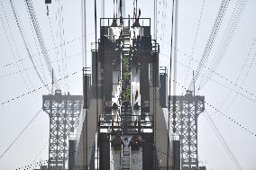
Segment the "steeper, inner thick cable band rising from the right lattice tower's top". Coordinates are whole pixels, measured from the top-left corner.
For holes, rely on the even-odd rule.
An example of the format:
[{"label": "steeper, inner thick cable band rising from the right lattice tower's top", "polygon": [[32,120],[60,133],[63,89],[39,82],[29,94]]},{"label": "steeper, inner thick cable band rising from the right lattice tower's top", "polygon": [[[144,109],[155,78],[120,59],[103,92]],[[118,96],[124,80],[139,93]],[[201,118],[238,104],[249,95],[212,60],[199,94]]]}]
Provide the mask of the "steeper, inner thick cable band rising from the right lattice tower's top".
[{"label": "steeper, inner thick cable band rising from the right lattice tower's top", "polygon": [[204,49],[203,56],[200,59],[200,62],[195,71],[195,76],[192,79],[191,83],[189,84],[188,89],[193,88],[195,82],[197,82],[198,77],[201,75],[201,71],[204,69],[204,67],[206,67],[207,59],[209,58],[210,52],[215,43],[215,38],[216,38],[218,31],[220,29],[220,26],[223,22],[224,14],[228,8],[229,3],[230,3],[230,0],[222,0],[222,4],[218,10],[217,17],[215,18],[215,23],[214,23],[213,29],[210,33],[209,39],[207,40],[206,48]]}]

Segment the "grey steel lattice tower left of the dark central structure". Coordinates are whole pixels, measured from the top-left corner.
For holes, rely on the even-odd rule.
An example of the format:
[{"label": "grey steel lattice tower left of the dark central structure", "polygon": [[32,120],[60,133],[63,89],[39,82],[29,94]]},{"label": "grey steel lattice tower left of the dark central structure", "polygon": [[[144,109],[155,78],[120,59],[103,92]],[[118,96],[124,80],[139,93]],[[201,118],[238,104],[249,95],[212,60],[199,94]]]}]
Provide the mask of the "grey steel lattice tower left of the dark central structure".
[{"label": "grey steel lattice tower left of the dark central structure", "polygon": [[82,95],[42,96],[42,109],[50,117],[50,142],[48,169],[65,169],[68,160],[68,137],[78,127],[78,118],[82,109]]}]

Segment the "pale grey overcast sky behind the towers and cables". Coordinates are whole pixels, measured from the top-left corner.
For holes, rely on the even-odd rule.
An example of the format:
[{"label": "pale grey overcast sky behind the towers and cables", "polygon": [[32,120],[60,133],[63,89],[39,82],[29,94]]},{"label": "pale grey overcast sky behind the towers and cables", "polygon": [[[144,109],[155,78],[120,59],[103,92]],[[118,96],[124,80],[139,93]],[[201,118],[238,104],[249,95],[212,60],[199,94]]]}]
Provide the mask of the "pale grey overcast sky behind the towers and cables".
[{"label": "pale grey overcast sky behind the towers and cables", "polygon": [[[22,37],[14,20],[14,14],[9,1],[0,0],[0,102],[16,98],[26,94],[10,103],[0,105],[0,154],[5,151],[14,138],[23,130],[23,127],[41,109],[41,95],[49,94],[47,89],[37,90],[27,94],[33,89],[41,87],[41,81],[32,69],[32,62],[24,48]],[[50,18],[46,15],[44,0],[32,0],[35,12],[38,17],[41,31],[49,49],[50,60],[59,77],[79,71],[82,67],[82,24],[81,24],[81,2],[80,0],[53,0],[50,4]],[[98,2],[98,16],[101,15],[101,1]],[[170,41],[170,19],[171,1],[158,0],[158,41],[160,42],[160,66],[169,67],[169,41]],[[205,4],[204,4],[205,2]],[[241,1],[243,2],[243,1]],[[233,13],[237,0],[231,0],[224,21],[216,37],[213,49],[206,67],[212,68],[211,63],[217,58],[217,49],[223,40],[225,30]],[[41,49],[34,36],[30,18],[24,1],[14,0],[19,13],[20,21],[23,23],[23,30],[26,33],[26,40],[29,42],[33,58],[45,80],[50,82],[50,74],[41,55]],[[59,5],[60,4],[60,5]],[[105,17],[113,15],[113,1],[105,0]],[[167,4],[167,5],[165,5]],[[202,6],[204,9],[202,11]],[[209,38],[221,0],[179,0],[178,5],[178,83],[187,85],[192,80],[192,70],[196,70],[197,61],[202,57]],[[62,12],[59,6],[62,5]],[[153,17],[153,0],[139,0],[139,7],[142,10],[142,17]],[[58,10],[59,9],[59,10]],[[256,169],[256,137],[248,131],[243,130],[233,121],[213,108],[224,112],[234,121],[239,122],[248,130],[256,132],[256,81],[255,81],[255,55],[256,44],[253,43],[256,36],[256,1],[248,0],[241,20],[234,30],[233,38],[229,44],[224,58],[215,69],[206,85],[197,91],[197,94],[205,95],[206,112],[212,115],[217,129],[223,135],[233,155],[245,170]],[[90,43],[94,40],[94,4],[87,1],[87,50],[91,49]],[[201,22],[198,27],[200,13]],[[126,1],[126,16],[133,15],[133,1]],[[63,23],[58,22],[63,16]],[[3,21],[3,22],[2,22]],[[153,22],[153,19],[152,19]],[[52,29],[50,29],[50,24]],[[63,25],[63,27],[61,26]],[[98,24],[99,25],[99,24]],[[64,39],[62,29],[64,30]],[[197,31],[198,28],[198,31]],[[153,31],[153,30],[152,30]],[[197,32],[197,33],[196,33]],[[197,34],[197,39],[196,39]],[[12,39],[12,35],[14,40]],[[196,40],[195,40],[196,39]],[[66,45],[59,48],[59,45],[66,41]],[[69,43],[67,43],[69,42]],[[195,46],[193,45],[195,42]],[[54,49],[55,45],[57,48]],[[15,46],[17,48],[15,48]],[[194,46],[193,59],[189,71],[189,56]],[[17,52],[18,51],[18,52]],[[251,51],[251,52],[250,52]],[[90,54],[88,53],[88,56]],[[61,59],[61,58],[67,59]],[[18,61],[22,60],[22,61]],[[16,62],[18,61],[18,62]],[[7,65],[7,66],[5,66]],[[42,66],[41,66],[42,65]],[[20,72],[25,69],[26,71]],[[208,69],[206,68],[206,71]],[[18,72],[18,73],[15,73]],[[14,74],[12,74],[14,73]],[[188,74],[187,74],[188,73]],[[11,75],[9,75],[11,74]],[[61,81],[61,89],[64,93],[82,94],[82,73],[70,76],[67,81]],[[206,72],[207,77],[208,73]],[[200,77],[201,78],[201,77]],[[200,85],[200,80],[196,87]],[[177,94],[184,94],[184,88],[177,85]],[[210,104],[212,106],[210,106]],[[198,119],[198,150],[199,160],[202,165],[213,170],[237,169],[228,156],[222,143],[215,135],[206,119],[206,112]],[[19,167],[28,166],[32,161],[39,162],[48,158],[49,139],[49,117],[45,112],[32,122],[21,138],[14,143],[14,146],[0,158],[0,169],[13,170]]]}]

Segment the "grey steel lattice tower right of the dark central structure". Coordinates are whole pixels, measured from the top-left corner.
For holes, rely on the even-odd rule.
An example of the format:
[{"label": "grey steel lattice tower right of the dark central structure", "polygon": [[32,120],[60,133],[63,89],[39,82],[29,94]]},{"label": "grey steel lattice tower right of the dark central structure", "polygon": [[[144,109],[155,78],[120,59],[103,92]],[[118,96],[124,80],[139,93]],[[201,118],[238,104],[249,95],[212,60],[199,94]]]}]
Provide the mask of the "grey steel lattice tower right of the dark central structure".
[{"label": "grey steel lattice tower right of the dark central structure", "polygon": [[192,93],[170,97],[170,121],[180,139],[182,170],[198,169],[197,118],[205,111],[205,96]]}]

